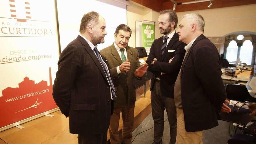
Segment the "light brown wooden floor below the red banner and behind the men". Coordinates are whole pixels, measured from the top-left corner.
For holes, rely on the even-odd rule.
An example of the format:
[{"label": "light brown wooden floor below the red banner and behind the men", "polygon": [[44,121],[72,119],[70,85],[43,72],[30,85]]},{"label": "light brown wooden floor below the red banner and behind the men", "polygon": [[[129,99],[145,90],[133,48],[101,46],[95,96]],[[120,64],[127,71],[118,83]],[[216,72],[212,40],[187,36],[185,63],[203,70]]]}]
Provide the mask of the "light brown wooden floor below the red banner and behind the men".
[{"label": "light brown wooden floor below the red banner and behind the men", "polygon": [[[143,86],[136,90],[134,129],[151,113],[149,83],[144,98]],[[0,132],[0,144],[77,144],[77,135],[69,133],[69,119],[60,111],[22,124],[24,129],[13,127]],[[120,120],[119,130],[121,130]],[[108,135],[109,139],[109,135]]]}]

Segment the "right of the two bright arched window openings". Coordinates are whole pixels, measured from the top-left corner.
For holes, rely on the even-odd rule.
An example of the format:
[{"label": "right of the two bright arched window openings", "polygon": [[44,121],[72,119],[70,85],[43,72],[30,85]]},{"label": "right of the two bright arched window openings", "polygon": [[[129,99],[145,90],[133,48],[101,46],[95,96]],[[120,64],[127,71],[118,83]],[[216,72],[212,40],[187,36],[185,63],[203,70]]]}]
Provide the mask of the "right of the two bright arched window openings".
[{"label": "right of the two bright arched window openings", "polygon": [[240,50],[240,61],[241,63],[246,63],[251,65],[253,56],[253,44],[250,40],[245,40]]}]

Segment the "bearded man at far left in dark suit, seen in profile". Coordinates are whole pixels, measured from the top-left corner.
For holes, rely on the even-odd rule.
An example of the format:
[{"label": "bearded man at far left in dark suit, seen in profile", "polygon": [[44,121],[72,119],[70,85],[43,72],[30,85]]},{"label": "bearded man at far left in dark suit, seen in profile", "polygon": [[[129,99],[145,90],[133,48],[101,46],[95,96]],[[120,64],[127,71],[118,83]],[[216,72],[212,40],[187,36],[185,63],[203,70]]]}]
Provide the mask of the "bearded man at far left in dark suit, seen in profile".
[{"label": "bearded man at far left in dark suit, seen in profile", "polygon": [[97,44],[107,34],[105,19],[96,12],[83,15],[80,34],[60,54],[53,98],[68,117],[70,133],[79,144],[106,144],[116,96],[108,63]]}]

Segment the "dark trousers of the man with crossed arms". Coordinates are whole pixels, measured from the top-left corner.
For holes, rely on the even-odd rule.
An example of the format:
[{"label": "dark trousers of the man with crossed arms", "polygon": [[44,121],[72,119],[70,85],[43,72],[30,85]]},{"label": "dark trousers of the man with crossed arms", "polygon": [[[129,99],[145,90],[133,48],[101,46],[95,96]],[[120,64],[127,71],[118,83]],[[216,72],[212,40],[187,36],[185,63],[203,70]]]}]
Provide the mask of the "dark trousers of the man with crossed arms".
[{"label": "dark trousers of the man with crossed arms", "polygon": [[170,144],[175,144],[177,119],[176,119],[176,106],[174,99],[171,97],[164,97],[161,95],[159,80],[154,83],[153,90],[151,91],[151,105],[152,117],[154,120],[154,143],[161,144],[163,137],[164,126],[164,109],[166,109],[168,121],[170,125]]}]

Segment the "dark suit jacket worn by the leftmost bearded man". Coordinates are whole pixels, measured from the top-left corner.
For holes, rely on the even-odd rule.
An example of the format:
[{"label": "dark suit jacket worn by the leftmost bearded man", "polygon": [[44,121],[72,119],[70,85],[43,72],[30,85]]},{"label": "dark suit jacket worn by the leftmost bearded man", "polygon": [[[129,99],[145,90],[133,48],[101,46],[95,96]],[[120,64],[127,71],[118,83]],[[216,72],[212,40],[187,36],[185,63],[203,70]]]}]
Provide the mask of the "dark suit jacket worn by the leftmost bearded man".
[{"label": "dark suit jacket worn by the leftmost bearded man", "polygon": [[70,133],[102,134],[109,128],[110,86],[97,56],[81,36],[60,55],[53,98],[69,116]]}]

